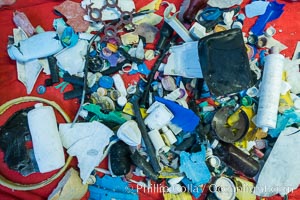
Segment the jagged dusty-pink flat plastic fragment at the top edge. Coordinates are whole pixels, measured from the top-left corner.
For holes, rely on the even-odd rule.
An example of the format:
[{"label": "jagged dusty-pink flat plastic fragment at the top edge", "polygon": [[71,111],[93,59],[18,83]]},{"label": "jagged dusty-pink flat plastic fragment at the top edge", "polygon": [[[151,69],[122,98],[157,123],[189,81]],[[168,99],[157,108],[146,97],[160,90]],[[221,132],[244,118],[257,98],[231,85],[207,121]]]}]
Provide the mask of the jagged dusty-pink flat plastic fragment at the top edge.
[{"label": "jagged dusty-pink flat plastic fragment at the top edge", "polygon": [[86,11],[80,6],[80,3],[64,1],[54,9],[67,18],[67,24],[72,26],[76,32],[85,32],[89,28],[90,23],[83,19]]}]

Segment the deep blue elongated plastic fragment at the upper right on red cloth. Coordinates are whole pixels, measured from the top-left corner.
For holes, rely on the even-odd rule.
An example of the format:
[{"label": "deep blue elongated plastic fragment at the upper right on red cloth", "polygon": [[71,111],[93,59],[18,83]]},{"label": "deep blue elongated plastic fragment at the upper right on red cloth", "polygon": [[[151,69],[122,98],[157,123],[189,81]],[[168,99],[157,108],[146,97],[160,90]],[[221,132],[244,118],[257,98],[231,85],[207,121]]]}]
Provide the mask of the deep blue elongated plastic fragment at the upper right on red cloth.
[{"label": "deep blue elongated plastic fragment at the upper right on red cloth", "polygon": [[276,1],[270,2],[266,12],[258,17],[256,23],[251,28],[251,32],[257,36],[262,35],[267,23],[281,16],[284,6],[285,4],[279,4]]}]

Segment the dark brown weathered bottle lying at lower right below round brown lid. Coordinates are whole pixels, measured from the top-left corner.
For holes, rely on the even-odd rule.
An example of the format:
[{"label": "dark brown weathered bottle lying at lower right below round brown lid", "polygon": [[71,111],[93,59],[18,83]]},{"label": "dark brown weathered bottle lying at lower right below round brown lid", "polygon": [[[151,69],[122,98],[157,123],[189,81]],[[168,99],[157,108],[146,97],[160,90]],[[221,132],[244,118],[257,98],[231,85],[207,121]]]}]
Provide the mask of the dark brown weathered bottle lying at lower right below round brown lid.
[{"label": "dark brown weathered bottle lying at lower right below round brown lid", "polygon": [[254,177],[259,171],[259,163],[233,144],[220,141],[213,152],[229,167],[247,177]]}]

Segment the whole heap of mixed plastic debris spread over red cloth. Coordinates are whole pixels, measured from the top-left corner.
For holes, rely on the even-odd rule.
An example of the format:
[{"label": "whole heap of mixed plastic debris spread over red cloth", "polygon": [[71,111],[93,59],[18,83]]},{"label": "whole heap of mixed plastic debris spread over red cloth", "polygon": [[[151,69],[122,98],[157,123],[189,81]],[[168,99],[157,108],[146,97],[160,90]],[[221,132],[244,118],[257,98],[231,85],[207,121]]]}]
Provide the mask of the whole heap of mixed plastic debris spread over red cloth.
[{"label": "whole heap of mixed plastic debris spread over red cloth", "polygon": [[[32,163],[20,169],[7,157],[9,167],[22,175],[58,169],[64,147],[90,199],[138,199],[156,186],[164,199],[254,200],[297,189],[300,154],[285,148],[300,140],[300,43],[292,59],[280,54],[287,47],[269,22],[284,4],[241,3],[190,0],[177,12],[161,1],[138,10],[132,0],[65,1],[47,31],[16,11],[7,51],[27,94],[43,69],[51,78],[39,94],[55,87],[80,103],[59,127],[51,107],[27,111],[21,130],[30,130],[34,155],[20,154]],[[6,156],[9,122],[0,137]],[[52,136],[37,137],[47,130]]]}]

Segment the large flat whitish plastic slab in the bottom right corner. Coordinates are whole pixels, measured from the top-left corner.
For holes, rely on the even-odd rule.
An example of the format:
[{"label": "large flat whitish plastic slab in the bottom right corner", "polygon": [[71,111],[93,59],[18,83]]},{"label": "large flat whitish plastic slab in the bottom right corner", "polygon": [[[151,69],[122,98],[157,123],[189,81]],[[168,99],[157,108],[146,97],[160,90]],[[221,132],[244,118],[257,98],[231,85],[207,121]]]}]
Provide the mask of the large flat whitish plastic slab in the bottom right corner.
[{"label": "large flat whitish plastic slab in the bottom right corner", "polygon": [[299,143],[299,129],[289,127],[280,133],[260,172],[254,194],[284,196],[299,186],[300,177],[296,174],[300,171],[300,154],[295,150]]}]

